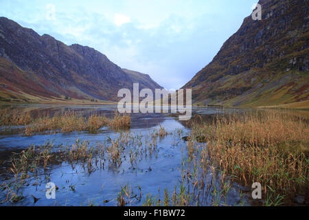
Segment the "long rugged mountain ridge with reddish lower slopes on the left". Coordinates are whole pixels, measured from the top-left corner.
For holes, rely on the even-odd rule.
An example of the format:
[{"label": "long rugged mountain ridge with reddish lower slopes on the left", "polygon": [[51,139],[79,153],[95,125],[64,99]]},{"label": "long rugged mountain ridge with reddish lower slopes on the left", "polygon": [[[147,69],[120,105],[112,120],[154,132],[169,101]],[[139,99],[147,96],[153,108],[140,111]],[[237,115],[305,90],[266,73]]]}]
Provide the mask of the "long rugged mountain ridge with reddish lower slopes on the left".
[{"label": "long rugged mountain ridge with reddish lower slopes on the left", "polygon": [[147,85],[144,76],[131,75],[91,47],[68,46],[0,18],[0,100],[116,101],[119,89]]}]

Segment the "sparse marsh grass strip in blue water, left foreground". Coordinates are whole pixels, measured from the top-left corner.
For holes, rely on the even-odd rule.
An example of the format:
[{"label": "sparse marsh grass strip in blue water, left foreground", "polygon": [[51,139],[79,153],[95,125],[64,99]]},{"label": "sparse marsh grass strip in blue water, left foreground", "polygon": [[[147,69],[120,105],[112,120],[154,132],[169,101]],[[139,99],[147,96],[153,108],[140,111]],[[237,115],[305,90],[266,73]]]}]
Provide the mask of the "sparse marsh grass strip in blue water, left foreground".
[{"label": "sparse marsh grass strip in blue water, left foreground", "polygon": [[[14,153],[10,162],[5,164],[12,176],[0,185],[0,190],[5,194],[1,202],[19,202],[23,199],[24,186],[29,186],[33,179],[41,178],[42,175],[48,179],[54,166],[60,166],[62,163],[71,165],[73,170],[78,165],[84,168],[84,172],[91,174],[98,169],[104,170],[105,163],[108,162],[108,168],[117,172],[124,161],[130,162],[134,167],[141,159],[156,153],[156,145],[157,140],[152,135],[142,137],[123,131],[113,140],[106,138],[104,143],[96,145],[79,139],[69,146],[54,146],[51,142],[42,146],[32,145]],[[74,186],[70,188],[74,190]]]}]

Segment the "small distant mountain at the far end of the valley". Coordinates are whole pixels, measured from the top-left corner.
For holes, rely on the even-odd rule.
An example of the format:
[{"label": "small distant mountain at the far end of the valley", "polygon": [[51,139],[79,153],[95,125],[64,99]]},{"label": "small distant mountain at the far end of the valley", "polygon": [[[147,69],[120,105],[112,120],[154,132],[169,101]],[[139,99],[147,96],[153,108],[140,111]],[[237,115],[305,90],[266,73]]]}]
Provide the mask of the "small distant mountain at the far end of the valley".
[{"label": "small distant mountain at the far end of the valley", "polygon": [[156,83],[148,74],[142,74],[140,72],[136,72],[130,69],[122,69],[128,76],[133,80],[134,83],[139,83],[139,87],[148,88],[152,91],[155,89],[163,89],[161,85]]}]

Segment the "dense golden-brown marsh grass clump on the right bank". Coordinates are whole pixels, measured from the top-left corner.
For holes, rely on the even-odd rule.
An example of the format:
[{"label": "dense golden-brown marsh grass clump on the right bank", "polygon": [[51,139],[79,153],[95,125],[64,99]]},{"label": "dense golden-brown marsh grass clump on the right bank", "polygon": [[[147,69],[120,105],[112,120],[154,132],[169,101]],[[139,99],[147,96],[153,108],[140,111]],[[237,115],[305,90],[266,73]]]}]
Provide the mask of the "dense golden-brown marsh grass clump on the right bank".
[{"label": "dense golden-brown marsh grass clump on the right bank", "polygon": [[[282,111],[257,111],[217,116],[213,123],[196,124],[192,136],[203,135],[207,145],[188,147],[196,162],[210,160],[244,186],[260,182],[264,199],[288,201],[285,195],[308,192],[308,123]],[[190,143],[188,143],[190,145]],[[289,198],[291,199],[291,198]]]}]

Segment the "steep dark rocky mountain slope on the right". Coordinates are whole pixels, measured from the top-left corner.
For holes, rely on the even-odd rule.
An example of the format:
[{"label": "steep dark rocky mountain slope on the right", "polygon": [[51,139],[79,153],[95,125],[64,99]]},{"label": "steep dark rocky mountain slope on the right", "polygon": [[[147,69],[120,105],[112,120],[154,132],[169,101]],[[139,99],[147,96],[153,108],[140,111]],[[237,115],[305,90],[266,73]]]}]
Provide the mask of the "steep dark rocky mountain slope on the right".
[{"label": "steep dark rocky mountain slope on the right", "polygon": [[183,88],[195,104],[258,107],[308,102],[308,0],[260,0],[213,61]]}]

